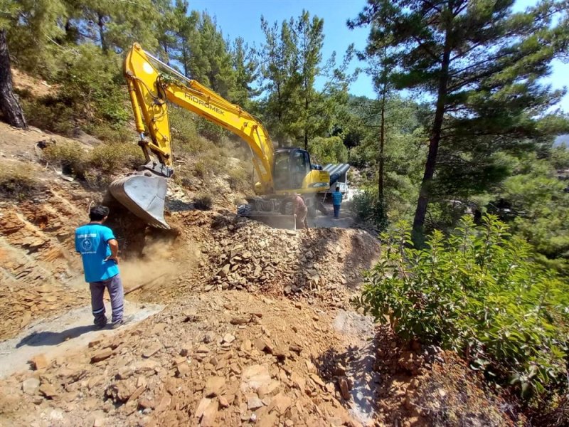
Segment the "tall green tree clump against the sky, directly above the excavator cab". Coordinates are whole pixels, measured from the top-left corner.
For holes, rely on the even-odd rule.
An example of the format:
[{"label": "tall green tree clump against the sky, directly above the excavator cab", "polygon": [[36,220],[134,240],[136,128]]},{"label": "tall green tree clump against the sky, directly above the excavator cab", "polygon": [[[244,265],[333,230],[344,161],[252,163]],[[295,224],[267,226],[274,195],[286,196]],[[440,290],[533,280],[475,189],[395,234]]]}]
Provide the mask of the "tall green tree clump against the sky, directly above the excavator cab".
[{"label": "tall green tree clump against the sky, directly above the excavator cab", "polygon": [[[302,11],[301,16],[272,26],[261,18],[265,44],[261,74],[265,90],[262,113],[274,139],[282,145],[302,145],[331,130],[334,117],[348,100],[353,75],[346,72],[352,47],[341,64],[335,53],[323,61],[324,21]],[[324,81],[317,90],[316,81]]]}]

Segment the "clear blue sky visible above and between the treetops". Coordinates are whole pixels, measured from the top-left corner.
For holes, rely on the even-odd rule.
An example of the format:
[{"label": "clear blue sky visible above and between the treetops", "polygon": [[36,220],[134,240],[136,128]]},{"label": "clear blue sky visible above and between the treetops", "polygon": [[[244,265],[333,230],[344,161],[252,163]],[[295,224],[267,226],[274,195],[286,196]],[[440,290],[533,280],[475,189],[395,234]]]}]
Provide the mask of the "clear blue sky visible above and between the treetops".
[{"label": "clear blue sky visible above and between the treetops", "polygon": [[[514,9],[523,10],[535,2],[518,0]],[[346,20],[355,18],[363,9],[365,0],[190,0],[189,3],[191,9],[207,10],[209,14],[216,16],[224,36],[232,39],[241,36],[246,42],[254,43],[257,47],[264,41],[260,26],[261,16],[265,16],[270,23],[281,22],[291,16],[299,16],[302,9],[307,9],[311,16],[317,15],[324,19],[325,59],[329,58],[332,51],[336,51],[337,59],[340,60],[350,43],[354,43],[356,49],[366,46],[368,29],[350,30],[346,26]],[[551,84],[553,88],[563,88],[565,76],[569,75],[569,64],[555,60],[552,65],[552,74],[544,79],[544,82]],[[354,60],[352,66],[363,68],[365,63]],[[358,80],[351,85],[350,92],[353,95],[375,96],[371,79],[365,73],[358,76]],[[563,97],[560,107],[569,112],[569,94]]]}]

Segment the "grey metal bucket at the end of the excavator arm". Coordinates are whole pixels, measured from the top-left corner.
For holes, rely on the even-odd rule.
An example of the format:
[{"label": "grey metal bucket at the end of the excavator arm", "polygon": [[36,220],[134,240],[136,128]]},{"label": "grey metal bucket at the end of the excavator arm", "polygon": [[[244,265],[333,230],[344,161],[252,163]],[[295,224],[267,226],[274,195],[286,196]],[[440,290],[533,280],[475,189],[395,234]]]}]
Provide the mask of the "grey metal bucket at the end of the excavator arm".
[{"label": "grey metal bucket at the end of the excavator arm", "polygon": [[109,186],[110,194],[134,215],[150,226],[169,229],[164,219],[167,189],[166,178],[144,175],[124,176]]}]

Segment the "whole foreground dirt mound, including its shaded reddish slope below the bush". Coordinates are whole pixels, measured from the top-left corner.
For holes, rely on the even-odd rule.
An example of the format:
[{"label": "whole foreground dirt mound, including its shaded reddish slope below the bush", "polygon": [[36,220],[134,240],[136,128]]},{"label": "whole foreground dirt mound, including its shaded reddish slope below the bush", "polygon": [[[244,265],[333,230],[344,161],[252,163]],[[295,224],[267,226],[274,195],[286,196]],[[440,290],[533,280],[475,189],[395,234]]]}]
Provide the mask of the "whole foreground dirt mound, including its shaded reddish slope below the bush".
[{"label": "whole foreground dirt mound, including its shaded reddish slope below the bush", "polygon": [[[371,330],[367,331],[371,327]],[[10,426],[513,426],[455,355],[238,291],[187,296],[0,380]],[[373,335],[372,335],[373,337]]]}]

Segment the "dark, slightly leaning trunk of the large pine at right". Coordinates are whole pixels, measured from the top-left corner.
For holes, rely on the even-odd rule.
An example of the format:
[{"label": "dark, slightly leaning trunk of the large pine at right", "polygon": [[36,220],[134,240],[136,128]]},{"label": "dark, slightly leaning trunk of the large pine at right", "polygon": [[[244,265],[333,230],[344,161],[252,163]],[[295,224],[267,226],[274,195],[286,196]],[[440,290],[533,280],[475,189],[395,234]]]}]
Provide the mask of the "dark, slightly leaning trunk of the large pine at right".
[{"label": "dark, slightly leaning trunk of the large pine at right", "polygon": [[445,47],[442,53],[442,63],[440,69],[439,88],[437,90],[437,105],[435,107],[435,118],[432,122],[432,130],[429,138],[429,153],[425,163],[425,173],[422,176],[417,209],[413,219],[413,243],[415,247],[422,244],[422,236],[425,226],[425,216],[427,215],[427,205],[429,204],[430,186],[432,177],[435,175],[437,164],[437,152],[442,130],[442,120],[445,118],[445,102],[447,97],[447,84],[449,81],[449,65],[451,53],[450,34],[447,30],[445,34]]}]

